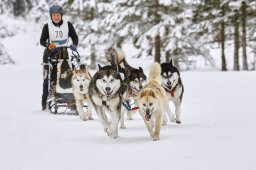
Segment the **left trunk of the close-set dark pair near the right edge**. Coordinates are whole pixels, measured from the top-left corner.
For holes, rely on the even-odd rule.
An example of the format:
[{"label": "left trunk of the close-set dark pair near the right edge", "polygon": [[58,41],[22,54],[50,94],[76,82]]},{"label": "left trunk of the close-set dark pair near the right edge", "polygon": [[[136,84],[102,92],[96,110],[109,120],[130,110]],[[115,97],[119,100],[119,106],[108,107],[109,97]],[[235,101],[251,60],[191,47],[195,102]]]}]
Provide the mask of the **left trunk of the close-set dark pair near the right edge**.
[{"label": "left trunk of the close-set dark pair near the right edge", "polygon": [[239,23],[238,23],[238,11],[235,11],[234,16],[234,70],[238,71],[239,68]]}]

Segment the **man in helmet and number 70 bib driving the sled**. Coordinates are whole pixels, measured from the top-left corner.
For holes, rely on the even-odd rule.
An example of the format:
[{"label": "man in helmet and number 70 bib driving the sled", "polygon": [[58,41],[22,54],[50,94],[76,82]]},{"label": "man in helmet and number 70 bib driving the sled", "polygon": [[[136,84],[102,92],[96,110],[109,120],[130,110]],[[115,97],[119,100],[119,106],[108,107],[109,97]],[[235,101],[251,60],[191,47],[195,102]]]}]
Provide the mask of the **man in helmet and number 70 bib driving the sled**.
[{"label": "man in helmet and number 70 bib driving the sled", "polygon": [[[72,39],[72,45],[69,46],[71,50],[76,51],[78,45],[78,36],[74,26],[69,22],[62,19],[63,8],[59,5],[53,5],[50,10],[51,21],[44,25],[40,44],[45,47],[43,54],[44,65],[44,81],[43,81],[43,95],[42,95],[42,110],[46,109],[46,102],[48,98],[48,72],[49,72],[49,58],[62,55],[62,58],[68,58],[68,39]],[[52,72],[50,86],[56,85],[57,79],[57,62],[51,62]],[[52,88],[53,90],[53,88]]]}]

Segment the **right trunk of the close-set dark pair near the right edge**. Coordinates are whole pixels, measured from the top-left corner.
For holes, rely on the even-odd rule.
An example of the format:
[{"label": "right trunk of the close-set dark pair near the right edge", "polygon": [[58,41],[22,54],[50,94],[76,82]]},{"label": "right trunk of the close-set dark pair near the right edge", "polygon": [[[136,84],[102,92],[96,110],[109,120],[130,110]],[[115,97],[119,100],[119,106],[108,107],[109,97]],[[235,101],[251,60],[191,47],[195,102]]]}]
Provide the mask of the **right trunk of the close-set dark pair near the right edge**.
[{"label": "right trunk of the close-set dark pair near the right edge", "polygon": [[243,70],[248,70],[247,54],[246,54],[246,3],[242,2],[242,49],[243,49]]}]

